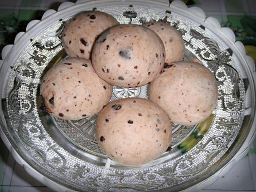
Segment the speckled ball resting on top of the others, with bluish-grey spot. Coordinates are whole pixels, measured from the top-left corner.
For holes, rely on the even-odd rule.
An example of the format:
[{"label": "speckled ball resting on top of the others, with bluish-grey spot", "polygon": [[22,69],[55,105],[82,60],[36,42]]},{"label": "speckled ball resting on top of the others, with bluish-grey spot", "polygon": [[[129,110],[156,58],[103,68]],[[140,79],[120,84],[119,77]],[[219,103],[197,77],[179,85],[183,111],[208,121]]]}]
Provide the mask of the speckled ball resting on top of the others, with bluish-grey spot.
[{"label": "speckled ball resting on top of the others, with bluish-grey spot", "polygon": [[165,62],[165,47],[151,29],[119,24],[98,38],[91,60],[95,72],[108,83],[139,87],[160,75]]}]

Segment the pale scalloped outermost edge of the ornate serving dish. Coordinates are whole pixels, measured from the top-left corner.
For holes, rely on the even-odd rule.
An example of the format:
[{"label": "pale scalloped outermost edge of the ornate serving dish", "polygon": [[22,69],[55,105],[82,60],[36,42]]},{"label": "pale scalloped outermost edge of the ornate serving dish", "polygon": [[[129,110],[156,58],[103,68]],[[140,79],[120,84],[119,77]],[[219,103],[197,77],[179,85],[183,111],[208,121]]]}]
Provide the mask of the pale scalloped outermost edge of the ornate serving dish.
[{"label": "pale scalloped outermost edge of the ornate serving dish", "polygon": [[[64,2],[61,3],[61,5],[58,8],[58,11],[65,9],[67,7],[73,6],[74,4],[80,4],[80,3],[84,3],[86,2],[86,0],[78,0],[76,3],[72,3],[72,2]],[[163,3],[164,4],[164,3]],[[231,31],[231,29],[228,28],[221,28],[218,20],[214,17],[209,17],[209,18],[205,18],[205,13],[204,11],[202,11],[202,9],[198,8],[198,7],[192,7],[192,8],[188,8],[186,6],[185,3],[183,3],[180,0],[175,0],[173,1],[169,6],[176,6],[179,8],[185,8],[185,9],[189,9],[189,11],[191,11],[192,13],[194,13],[197,17],[200,17],[201,19],[205,19],[205,23],[211,24],[214,27],[218,27],[221,29],[221,31],[223,33],[225,33],[226,37],[229,38],[230,41],[232,41],[235,46],[238,48],[238,50],[242,53],[242,55],[245,57],[245,60],[247,61],[248,65],[250,66],[250,70],[253,74],[253,79],[254,82],[256,82],[256,72],[255,72],[255,64],[254,61],[252,60],[251,57],[247,56],[245,54],[245,49],[244,49],[244,45],[241,42],[235,42],[235,38],[234,38],[234,33]],[[55,10],[53,9],[49,9],[47,10],[44,15],[42,16],[42,19],[45,19],[46,17],[51,16],[52,14],[56,13]],[[42,20],[41,19],[41,20]],[[28,23],[27,27],[26,27],[26,31],[28,29],[31,29],[36,23],[40,22],[39,20],[32,20],[30,23]],[[15,37],[15,43],[17,43],[17,41],[20,39],[20,37],[22,35],[24,35],[25,32],[20,32],[16,35]],[[13,45],[6,45],[4,46],[3,50],[2,50],[2,60],[0,60],[0,67],[2,66],[2,63],[4,61],[4,58],[8,55],[9,51],[11,50],[11,48],[13,47]],[[256,130],[256,122],[254,120],[254,124],[252,125],[252,129],[249,132],[250,137],[247,137],[247,139],[245,140],[243,146],[241,146],[241,148],[239,149],[239,151],[235,154],[235,156],[229,161],[228,164],[226,164],[224,166],[224,168],[221,168],[219,171],[217,171],[214,175],[210,176],[209,178],[207,178],[206,180],[202,181],[201,183],[191,186],[190,188],[183,190],[183,191],[198,191],[201,189],[204,189],[206,186],[214,183],[218,178],[220,178],[221,176],[223,176],[225,173],[227,173],[231,168],[233,168],[233,166],[238,163],[238,161],[247,154],[248,151],[248,147],[250,145],[250,143],[253,141],[253,138],[255,137],[255,130]],[[21,164],[25,170],[27,171],[28,174],[32,175],[34,178],[36,178],[37,180],[41,181],[41,183],[44,183],[45,185],[49,186],[49,188],[55,190],[55,191],[73,191],[70,190],[68,188],[66,188],[65,186],[62,186],[60,184],[55,183],[54,181],[45,178],[45,176],[43,176],[42,174],[40,174],[38,171],[36,171],[35,169],[33,169],[30,165],[28,165],[20,155],[18,155],[18,153],[16,152],[15,149],[13,149],[11,143],[8,141],[6,135],[4,135],[2,129],[0,129],[0,133],[1,133],[1,139],[3,140],[4,144],[7,146],[7,148],[9,149],[9,151],[11,151],[12,155],[15,157],[15,160]]]}]

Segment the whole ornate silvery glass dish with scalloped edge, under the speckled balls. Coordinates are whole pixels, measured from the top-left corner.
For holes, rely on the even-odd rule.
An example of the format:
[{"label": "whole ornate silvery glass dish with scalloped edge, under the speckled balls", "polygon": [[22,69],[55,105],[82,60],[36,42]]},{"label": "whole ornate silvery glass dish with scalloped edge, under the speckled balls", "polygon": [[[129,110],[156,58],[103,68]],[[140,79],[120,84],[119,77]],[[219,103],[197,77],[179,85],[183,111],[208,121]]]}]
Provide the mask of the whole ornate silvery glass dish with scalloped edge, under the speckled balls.
[{"label": "whole ornate silvery glass dish with scalloped edge, under the speckled balls", "polygon": [[[184,60],[202,63],[218,80],[214,113],[199,125],[173,125],[172,145],[143,166],[122,166],[103,154],[94,138],[97,115],[78,121],[40,110],[40,78],[66,57],[61,30],[74,14],[90,9],[120,23],[164,21],[182,33]],[[4,47],[0,64],[1,138],[16,161],[56,191],[198,190],[229,170],[255,135],[255,66],[228,28],[180,1],[78,1],[48,10]],[[112,100],[147,98],[147,86],[114,87]],[[196,185],[197,184],[197,185]]]}]

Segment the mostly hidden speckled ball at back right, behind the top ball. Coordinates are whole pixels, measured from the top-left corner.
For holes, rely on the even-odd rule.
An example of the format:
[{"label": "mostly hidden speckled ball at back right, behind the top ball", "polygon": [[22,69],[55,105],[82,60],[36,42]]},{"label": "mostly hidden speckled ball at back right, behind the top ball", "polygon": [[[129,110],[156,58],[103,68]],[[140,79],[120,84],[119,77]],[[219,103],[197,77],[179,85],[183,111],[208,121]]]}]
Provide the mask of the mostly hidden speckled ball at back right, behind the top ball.
[{"label": "mostly hidden speckled ball at back right, behind the top ball", "polygon": [[143,26],[150,28],[163,41],[165,45],[165,62],[172,63],[175,61],[182,61],[184,56],[185,46],[181,33],[177,29],[163,22],[148,22]]}]

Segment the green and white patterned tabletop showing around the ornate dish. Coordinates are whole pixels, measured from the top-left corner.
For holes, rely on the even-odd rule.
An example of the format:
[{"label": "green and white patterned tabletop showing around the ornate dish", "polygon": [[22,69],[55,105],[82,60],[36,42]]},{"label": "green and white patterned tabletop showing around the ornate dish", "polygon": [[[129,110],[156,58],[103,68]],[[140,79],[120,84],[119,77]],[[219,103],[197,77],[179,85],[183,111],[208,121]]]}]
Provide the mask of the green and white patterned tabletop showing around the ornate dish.
[{"label": "green and white patterned tabletop showing around the ornate dish", "polygon": [[[165,0],[162,0],[165,1]],[[50,0],[0,1],[0,49],[12,44],[16,34],[25,31],[31,19],[40,19],[45,10],[57,9],[61,2]],[[73,1],[74,2],[74,1]],[[221,26],[230,27],[236,40],[244,43],[247,54],[256,60],[256,1],[255,0],[184,0],[189,6],[202,8],[206,16],[218,19]],[[244,22],[247,21],[247,22]],[[52,191],[26,173],[15,162],[0,140],[0,191]],[[249,153],[228,174],[202,191],[256,191],[256,139]]]}]

